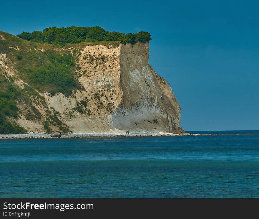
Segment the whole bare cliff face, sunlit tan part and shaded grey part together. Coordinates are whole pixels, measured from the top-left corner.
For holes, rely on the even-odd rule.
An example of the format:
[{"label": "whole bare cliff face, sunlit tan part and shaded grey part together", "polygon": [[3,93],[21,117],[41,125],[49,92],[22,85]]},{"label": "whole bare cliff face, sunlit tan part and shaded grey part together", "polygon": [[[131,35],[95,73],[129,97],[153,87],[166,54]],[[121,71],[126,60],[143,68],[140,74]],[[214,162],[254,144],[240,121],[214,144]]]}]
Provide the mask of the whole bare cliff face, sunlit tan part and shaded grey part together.
[{"label": "whole bare cliff face, sunlit tan part and shaded grey part together", "polygon": [[[172,132],[180,127],[180,105],[148,58],[149,43],[87,46],[78,61],[84,89],[46,101],[74,133]],[[75,110],[80,101],[87,101],[83,113]]]}]

